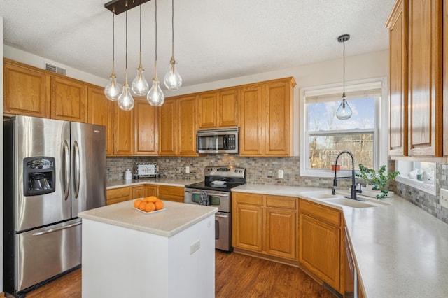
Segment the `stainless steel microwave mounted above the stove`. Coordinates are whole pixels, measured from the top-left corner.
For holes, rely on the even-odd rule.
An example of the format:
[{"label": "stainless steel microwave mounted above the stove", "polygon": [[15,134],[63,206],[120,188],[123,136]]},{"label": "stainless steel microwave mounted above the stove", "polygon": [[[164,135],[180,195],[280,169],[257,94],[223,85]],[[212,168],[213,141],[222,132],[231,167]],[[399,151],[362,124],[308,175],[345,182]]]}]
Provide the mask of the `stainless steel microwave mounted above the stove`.
[{"label": "stainless steel microwave mounted above the stove", "polygon": [[197,129],[198,153],[238,153],[239,127]]}]

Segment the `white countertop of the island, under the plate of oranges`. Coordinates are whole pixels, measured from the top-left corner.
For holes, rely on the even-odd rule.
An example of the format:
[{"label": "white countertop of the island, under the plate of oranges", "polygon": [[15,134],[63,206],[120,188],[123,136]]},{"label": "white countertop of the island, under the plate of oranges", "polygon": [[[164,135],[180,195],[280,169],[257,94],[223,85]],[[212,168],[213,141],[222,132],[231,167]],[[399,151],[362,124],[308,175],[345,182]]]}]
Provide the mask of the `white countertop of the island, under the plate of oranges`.
[{"label": "white countertop of the island, under the plate of oranges", "polygon": [[165,211],[142,213],[134,201],[123,201],[79,213],[80,218],[171,237],[218,211],[216,207],[163,201]]}]

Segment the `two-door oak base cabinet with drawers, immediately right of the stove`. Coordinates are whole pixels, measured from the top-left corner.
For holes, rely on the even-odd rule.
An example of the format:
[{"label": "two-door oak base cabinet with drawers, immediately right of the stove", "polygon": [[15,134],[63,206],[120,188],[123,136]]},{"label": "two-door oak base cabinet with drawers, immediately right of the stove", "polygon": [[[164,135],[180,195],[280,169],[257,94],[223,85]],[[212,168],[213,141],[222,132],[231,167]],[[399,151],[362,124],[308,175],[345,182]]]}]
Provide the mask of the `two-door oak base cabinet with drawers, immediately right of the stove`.
[{"label": "two-door oak base cabinet with drawers, immediately right of the stove", "polygon": [[298,199],[261,194],[232,196],[232,246],[297,261]]}]

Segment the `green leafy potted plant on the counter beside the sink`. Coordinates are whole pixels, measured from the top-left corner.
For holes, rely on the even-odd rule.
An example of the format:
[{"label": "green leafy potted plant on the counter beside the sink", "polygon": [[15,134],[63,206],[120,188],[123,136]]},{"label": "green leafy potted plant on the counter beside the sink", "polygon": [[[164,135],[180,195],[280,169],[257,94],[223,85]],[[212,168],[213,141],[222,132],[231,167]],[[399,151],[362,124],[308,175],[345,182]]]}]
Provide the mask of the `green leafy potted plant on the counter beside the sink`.
[{"label": "green leafy potted plant on the counter beside the sink", "polygon": [[356,177],[364,179],[367,187],[371,186],[371,191],[367,188],[367,190],[363,191],[363,194],[377,197],[377,199],[384,199],[385,197],[393,196],[393,192],[389,194],[389,191],[384,189],[384,187],[399,174],[399,171],[386,173],[385,165],[381,166],[378,171],[375,171],[374,169],[367,169],[363,164],[359,164],[359,173],[356,173]]}]

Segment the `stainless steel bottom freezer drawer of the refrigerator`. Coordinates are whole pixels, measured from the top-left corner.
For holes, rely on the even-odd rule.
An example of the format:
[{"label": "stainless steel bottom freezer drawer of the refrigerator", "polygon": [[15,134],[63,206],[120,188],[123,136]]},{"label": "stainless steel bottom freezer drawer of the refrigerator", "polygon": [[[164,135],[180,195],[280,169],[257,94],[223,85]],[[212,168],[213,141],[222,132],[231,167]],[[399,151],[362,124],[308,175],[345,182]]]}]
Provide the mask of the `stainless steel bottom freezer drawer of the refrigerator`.
[{"label": "stainless steel bottom freezer drawer of the refrigerator", "polygon": [[78,218],[16,234],[16,292],[81,263],[81,223]]}]

